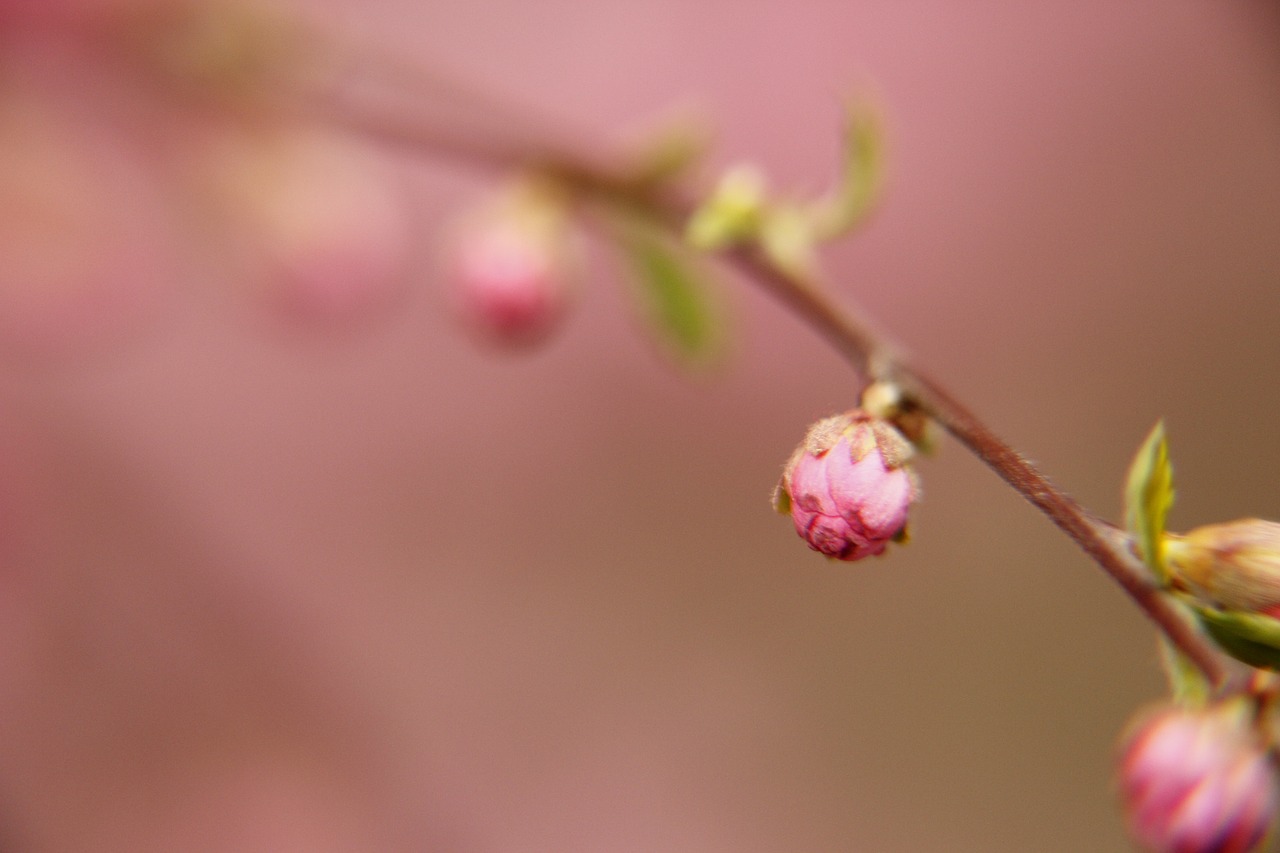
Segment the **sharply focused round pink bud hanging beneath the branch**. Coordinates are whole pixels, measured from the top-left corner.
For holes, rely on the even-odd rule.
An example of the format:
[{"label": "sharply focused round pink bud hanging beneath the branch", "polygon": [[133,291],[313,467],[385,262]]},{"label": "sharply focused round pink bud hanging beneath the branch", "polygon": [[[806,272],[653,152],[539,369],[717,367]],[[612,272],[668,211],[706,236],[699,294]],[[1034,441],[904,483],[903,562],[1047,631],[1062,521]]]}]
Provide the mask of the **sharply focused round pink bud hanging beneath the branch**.
[{"label": "sharply focused round pink bud hanging beneath the branch", "polygon": [[901,433],[865,411],[819,420],[787,461],[774,507],[828,557],[882,553],[906,538],[906,512],[919,497],[911,453]]}]

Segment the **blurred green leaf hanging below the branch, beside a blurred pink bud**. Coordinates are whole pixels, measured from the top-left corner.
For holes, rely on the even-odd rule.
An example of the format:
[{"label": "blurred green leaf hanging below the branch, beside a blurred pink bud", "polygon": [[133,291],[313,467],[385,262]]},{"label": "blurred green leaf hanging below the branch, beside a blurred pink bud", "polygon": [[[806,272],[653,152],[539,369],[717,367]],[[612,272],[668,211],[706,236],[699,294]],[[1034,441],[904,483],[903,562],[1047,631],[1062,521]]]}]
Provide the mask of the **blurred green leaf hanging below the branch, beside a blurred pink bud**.
[{"label": "blurred green leaf hanging below the branch, beside a blurred pink bud", "polygon": [[686,247],[632,224],[618,246],[635,273],[639,307],[658,342],[682,366],[701,366],[722,350],[723,321],[698,259]]}]

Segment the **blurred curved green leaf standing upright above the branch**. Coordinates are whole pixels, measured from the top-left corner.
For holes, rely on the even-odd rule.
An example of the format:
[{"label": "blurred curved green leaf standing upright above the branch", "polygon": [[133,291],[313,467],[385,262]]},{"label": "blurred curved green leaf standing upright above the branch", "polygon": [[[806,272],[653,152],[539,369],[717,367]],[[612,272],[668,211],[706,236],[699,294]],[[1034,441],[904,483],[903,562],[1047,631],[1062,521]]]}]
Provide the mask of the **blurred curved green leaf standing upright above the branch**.
[{"label": "blurred curved green leaf standing upright above the branch", "polygon": [[840,182],[814,211],[823,238],[852,231],[874,209],[884,186],[884,147],[879,111],[867,102],[850,102]]}]

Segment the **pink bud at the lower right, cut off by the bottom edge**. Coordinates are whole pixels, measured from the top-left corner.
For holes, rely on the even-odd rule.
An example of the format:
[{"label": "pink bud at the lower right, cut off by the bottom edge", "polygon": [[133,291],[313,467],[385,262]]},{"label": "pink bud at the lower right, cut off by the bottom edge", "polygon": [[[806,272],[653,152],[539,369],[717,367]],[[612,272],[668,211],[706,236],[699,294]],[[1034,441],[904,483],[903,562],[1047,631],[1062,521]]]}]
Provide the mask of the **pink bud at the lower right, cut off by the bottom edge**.
[{"label": "pink bud at the lower right, cut off by the bottom edge", "polygon": [[1134,838],[1160,853],[1245,853],[1276,813],[1275,768],[1244,699],[1139,720],[1120,756]]}]

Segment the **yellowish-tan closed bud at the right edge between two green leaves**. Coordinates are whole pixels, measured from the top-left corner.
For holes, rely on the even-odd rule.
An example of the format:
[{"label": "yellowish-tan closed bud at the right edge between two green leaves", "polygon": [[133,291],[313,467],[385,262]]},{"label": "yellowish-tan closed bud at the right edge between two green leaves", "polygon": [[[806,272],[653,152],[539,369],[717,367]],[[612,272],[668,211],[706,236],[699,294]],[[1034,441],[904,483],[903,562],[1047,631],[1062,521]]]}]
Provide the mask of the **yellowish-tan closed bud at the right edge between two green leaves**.
[{"label": "yellowish-tan closed bud at the right edge between two green leaves", "polygon": [[1240,519],[1170,534],[1174,584],[1220,610],[1280,616],[1280,524]]}]

